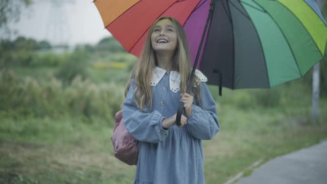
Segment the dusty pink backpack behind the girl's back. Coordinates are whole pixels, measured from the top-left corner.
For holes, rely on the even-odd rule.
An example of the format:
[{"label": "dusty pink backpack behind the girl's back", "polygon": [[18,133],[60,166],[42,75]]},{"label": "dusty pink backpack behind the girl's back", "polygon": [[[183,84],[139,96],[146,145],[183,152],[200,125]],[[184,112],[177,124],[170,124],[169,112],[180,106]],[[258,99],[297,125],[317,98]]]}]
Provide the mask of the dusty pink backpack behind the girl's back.
[{"label": "dusty pink backpack behind the girl's back", "polygon": [[137,165],[138,141],[127,131],[123,123],[123,110],[115,114],[111,141],[114,156],[128,165]]}]

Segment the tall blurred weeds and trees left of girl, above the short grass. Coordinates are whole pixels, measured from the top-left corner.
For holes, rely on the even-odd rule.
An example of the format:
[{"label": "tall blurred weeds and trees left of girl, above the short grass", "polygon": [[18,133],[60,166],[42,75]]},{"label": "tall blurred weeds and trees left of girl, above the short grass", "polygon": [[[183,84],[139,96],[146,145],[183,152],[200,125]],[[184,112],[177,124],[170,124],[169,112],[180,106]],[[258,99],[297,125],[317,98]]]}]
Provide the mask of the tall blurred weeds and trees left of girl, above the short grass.
[{"label": "tall blurred weeds and trees left of girl, above the short grass", "polygon": [[90,122],[98,117],[112,126],[136,58],[112,37],[61,53],[52,48],[49,42],[24,37],[0,42],[2,116],[81,115]]}]

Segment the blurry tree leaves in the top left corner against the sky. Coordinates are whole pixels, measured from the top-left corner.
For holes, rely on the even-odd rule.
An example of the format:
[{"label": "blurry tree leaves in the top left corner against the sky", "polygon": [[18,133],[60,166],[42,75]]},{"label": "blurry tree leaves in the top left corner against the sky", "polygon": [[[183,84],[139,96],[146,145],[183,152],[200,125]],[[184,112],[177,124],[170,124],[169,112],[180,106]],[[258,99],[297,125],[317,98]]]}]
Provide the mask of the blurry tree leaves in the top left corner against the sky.
[{"label": "blurry tree leaves in the top left corner against the sky", "polygon": [[32,4],[33,0],[1,0],[0,1],[0,30],[3,34],[10,34],[10,22],[18,21],[22,8]]}]

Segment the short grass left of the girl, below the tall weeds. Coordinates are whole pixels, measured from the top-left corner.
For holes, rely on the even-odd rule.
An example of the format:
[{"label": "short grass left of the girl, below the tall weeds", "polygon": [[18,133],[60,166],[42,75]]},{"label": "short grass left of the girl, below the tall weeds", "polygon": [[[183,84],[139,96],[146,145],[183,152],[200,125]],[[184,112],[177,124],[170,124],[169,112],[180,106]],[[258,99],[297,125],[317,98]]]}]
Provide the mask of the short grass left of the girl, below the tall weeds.
[{"label": "short grass left of the girl, below the tall weeds", "polygon": [[131,183],[135,167],[114,158],[112,130],[99,124],[2,120],[0,183]]}]

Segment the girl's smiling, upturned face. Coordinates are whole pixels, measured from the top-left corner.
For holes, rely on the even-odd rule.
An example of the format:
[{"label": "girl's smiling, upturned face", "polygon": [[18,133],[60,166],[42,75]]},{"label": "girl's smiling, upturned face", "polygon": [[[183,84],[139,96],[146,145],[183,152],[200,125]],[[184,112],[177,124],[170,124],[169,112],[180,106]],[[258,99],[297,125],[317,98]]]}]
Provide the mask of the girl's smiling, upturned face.
[{"label": "girl's smiling, upturned face", "polygon": [[177,33],[173,22],[162,19],[154,26],[151,45],[155,52],[174,52],[177,47]]}]

